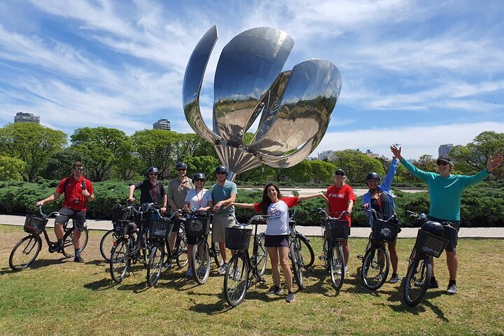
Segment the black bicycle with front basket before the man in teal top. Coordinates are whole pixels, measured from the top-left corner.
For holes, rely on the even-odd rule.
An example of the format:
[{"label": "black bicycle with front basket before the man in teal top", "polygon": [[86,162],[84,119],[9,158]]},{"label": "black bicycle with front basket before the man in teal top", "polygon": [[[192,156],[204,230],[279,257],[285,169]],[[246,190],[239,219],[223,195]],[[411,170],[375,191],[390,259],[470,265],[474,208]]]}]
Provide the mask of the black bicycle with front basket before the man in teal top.
[{"label": "black bicycle with front basket before the man in teal top", "polygon": [[[416,217],[422,224],[430,222],[425,214],[417,214],[409,210],[406,212],[409,216]],[[444,230],[456,230],[449,221],[441,224]],[[448,243],[449,240],[442,237],[442,232],[440,235],[434,235],[422,228],[419,229],[412,253],[409,255],[408,269],[404,280],[403,295],[408,306],[416,306],[423,300],[432,276],[432,258],[439,258]]]}]

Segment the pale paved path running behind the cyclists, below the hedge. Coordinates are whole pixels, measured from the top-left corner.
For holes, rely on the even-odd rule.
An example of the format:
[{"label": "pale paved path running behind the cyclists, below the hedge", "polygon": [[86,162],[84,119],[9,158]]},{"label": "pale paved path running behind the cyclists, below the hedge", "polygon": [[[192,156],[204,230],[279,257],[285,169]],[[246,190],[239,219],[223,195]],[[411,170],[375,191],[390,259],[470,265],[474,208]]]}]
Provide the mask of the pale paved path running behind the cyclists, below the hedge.
[{"label": "pale paved path running behind the cyclists, below the hedge", "polygon": [[[0,224],[20,225],[25,223],[25,216],[0,215]],[[90,230],[111,230],[111,221],[100,221],[94,219],[87,220],[87,228]],[[54,221],[50,220],[48,227],[52,228]],[[266,225],[259,225],[259,231],[265,231]],[[297,230],[302,234],[316,237],[321,236],[321,228],[317,226],[297,226]],[[399,238],[414,238],[418,228],[403,228],[398,235]],[[370,228],[351,228],[350,237],[369,237]],[[464,238],[504,238],[504,228],[461,228],[458,237]]]}]

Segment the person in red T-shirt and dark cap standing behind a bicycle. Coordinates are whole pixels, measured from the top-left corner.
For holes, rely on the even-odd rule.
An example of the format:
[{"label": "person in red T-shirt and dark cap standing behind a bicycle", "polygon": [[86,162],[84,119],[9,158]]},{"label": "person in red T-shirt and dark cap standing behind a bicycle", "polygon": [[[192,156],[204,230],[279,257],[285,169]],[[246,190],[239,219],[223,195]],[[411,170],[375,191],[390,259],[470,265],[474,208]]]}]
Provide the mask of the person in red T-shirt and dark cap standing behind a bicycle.
[{"label": "person in red T-shirt and dark cap standing behind a bicycle", "polygon": [[[350,215],[351,209],[353,207],[353,202],[357,199],[355,195],[353,195],[353,189],[351,186],[344,183],[346,179],[345,173],[343,169],[336,169],[334,174],[335,184],[328,187],[327,192],[325,193],[325,197],[328,198],[328,201],[325,202],[325,211],[331,217],[338,217],[342,212],[346,211],[348,214],[344,214],[342,221],[348,221],[349,226],[351,226]],[[345,260],[345,274],[348,273],[348,268],[346,265],[348,264],[349,255],[350,255],[350,247],[348,244],[348,239],[342,240],[342,248],[343,255]]]}]

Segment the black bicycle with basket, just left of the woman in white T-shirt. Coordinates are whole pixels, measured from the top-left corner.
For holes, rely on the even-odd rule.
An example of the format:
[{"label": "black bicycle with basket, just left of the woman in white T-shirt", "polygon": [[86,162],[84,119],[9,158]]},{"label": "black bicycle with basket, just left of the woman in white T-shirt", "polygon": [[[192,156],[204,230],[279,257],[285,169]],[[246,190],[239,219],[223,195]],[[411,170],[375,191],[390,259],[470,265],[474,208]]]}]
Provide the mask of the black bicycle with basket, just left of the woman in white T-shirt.
[{"label": "black bicycle with basket, just left of the woman in white T-shirt", "polygon": [[[262,277],[266,271],[267,251],[264,246],[265,233],[258,235],[258,225],[266,223],[267,215],[252,216],[248,224],[235,225],[225,228],[225,244],[231,250],[235,250],[224,274],[224,297],[231,307],[240,304],[246,295],[248,288],[254,283],[266,283]],[[247,225],[255,224],[253,234],[252,255],[248,253],[248,246],[252,237],[252,229]]]}]

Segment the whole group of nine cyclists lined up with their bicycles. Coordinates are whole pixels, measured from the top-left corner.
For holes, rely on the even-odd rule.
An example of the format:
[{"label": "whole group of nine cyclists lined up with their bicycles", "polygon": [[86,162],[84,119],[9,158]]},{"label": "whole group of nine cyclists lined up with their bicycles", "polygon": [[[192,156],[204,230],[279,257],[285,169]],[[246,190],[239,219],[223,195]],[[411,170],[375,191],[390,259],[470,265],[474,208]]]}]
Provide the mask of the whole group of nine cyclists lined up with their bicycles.
[{"label": "whole group of nine cyclists lined up with their bicycles", "polygon": [[[456,288],[456,272],[458,268],[458,257],[456,254],[456,245],[458,240],[458,229],[460,228],[460,207],[462,191],[479,181],[484,180],[489,174],[503,162],[503,155],[496,155],[496,158],[489,158],[486,169],[472,176],[451,174],[451,169],[454,167],[453,162],[447,156],[437,158],[436,164],[438,173],[424,172],[416,168],[410,162],[402,158],[401,148],[391,146],[393,160],[383,181],[376,172],[370,172],[366,176],[366,184],[369,190],[363,195],[363,207],[373,209],[379,217],[389,218],[395,213],[395,204],[393,194],[391,192],[391,184],[398,169],[398,163],[401,164],[411,174],[427,183],[430,194],[430,210],[428,218],[431,221],[440,223],[449,221],[454,230],[444,230],[444,237],[449,239],[449,244],[446,248],[447,266],[449,271],[449,283],[447,293],[455,294]],[[130,186],[129,199],[135,201],[133,197],[134,190],[141,191],[141,203],[152,202],[159,204],[160,211],[167,211],[169,204],[171,214],[174,214],[178,209],[185,211],[209,211],[214,210],[212,240],[219,244],[221,255],[223,258],[223,266],[218,269],[218,274],[225,273],[229,255],[225,248],[225,228],[232,227],[236,224],[235,207],[244,207],[253,209],[259,214],[269,215],[266,229],[265,246],[269,260],[272,264],[272,275],[274,286],[269,290],[268,295],[281,295],[283,289],[281,287],[280,268],[286,280],[288,293],[286,301],[294,300],[293,293],[293,274],[290,271],[288,258],[288,235],[289,235],[289,215],[288,208],[295,207],[303,200],[309,200],[314,197],[321,197],[325,200],[326,212],[330,217],[342,215],[343,221],[348,221],[351,225],[351,214],[356,197],[353,194],[352,188],[345,183],[346,174],[343,169],[337,169],[333,176],[335,183],[329,186],[325,193],[316,193],[311,195],[300,195],[297,197],[283,197],[281,192],[274,183],[269,183],[265,186],[262,192],[262,200],[257,203],[244,204],[237,203],[237,185],[228,180],[228,169],[219,165],[215,169],[216,183],[211,189],[204,188],[204,183],[207,180],[202,173],[193,175],[193,179],[187,176],[188,166],[184,162],[176,164],[176,178],[169,181],[168,190],[160,181],[158,181],[159,170],[155,167],[148,169],[147,178],[137,184]],[[59,251],[62,246],[63,228],[62,225],[74,218],[74,235],[73,246],[76,249],[75,261],[83,262],[80,257],[79,237],[80,230],[83,228],[85,221],[85,211],[87,201],[94,200],[92,183],[83,177],[83,165],[80,162],[75,162],[73,165],[72,175],[62,179],[53,195],[37,202],[37,205],[43,205],[45,202],[54,202],[61,195],[65,195],[62,204],[62,209],[59,210],[60,216],[55,221],[55,234],[58,239],[57,244],[50,248],[50,252]],[[369,223],[372,227],[373,217],[369,211],[364,214],[369,216]],[[169,239],[169,246],[173,248],[176,232],[179,231],[180,223],[175,223],[172,235]],[[192,251],[194,240],[188,240],[188,253]],[[396,248],[397,239],[388,244],[388,250],[391,255],[391,265],[393,273],[391,283],[398,282],[398,252]],[[342,241],[345,269],[348,272],[348,260],[350,248],[348,239]],[[193,265],[189,264],[186,275],[193,275]],[[434,276],[431,278],[430,287],[438,288],[437,280]]]}]

